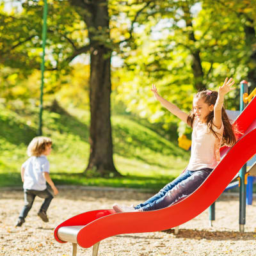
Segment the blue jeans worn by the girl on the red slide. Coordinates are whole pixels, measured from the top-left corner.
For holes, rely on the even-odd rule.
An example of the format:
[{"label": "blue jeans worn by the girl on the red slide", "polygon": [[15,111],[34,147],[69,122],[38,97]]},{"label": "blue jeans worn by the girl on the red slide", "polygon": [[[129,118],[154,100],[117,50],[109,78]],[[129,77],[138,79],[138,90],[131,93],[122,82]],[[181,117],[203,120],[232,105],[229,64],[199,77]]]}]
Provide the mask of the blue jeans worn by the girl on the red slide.
[{"label": "blue jeans worn by the girl on the red slide", "polygon": [[149,198],[142,204],[136,205],[135,209],[153,211],[168,207],[180,198],[193,193],[208,177],[212,169],[203,168],[196,171],[186,170],[175,180],[164,186],[156,195]]}]

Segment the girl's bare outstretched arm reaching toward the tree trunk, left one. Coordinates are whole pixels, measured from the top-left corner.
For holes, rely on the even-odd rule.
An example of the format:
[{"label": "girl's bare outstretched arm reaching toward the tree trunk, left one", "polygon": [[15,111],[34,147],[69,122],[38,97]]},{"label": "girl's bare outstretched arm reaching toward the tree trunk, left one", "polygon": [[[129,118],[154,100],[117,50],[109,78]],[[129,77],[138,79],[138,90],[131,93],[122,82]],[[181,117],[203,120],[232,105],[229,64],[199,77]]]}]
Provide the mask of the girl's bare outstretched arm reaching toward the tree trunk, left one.
[{"label": "girl's bare outstretched arm reaching toward the tree trunk, left one", "polygon": [[171,102],[168,102],[168,100],[165,100],[163,97],[161,97],[157,93],[157,88],[155,84],[152,84],[152,89],[151,91],[154,93],[154,96],[156,97],[157,100],[164,106],[164,108],[168,109],[173,115],[177,116],[180,118],[180,120],[184,121],[186,124],[188,124],[187,119],[188,119],[188,114],[181,111],[176,105],[172,104]]}]

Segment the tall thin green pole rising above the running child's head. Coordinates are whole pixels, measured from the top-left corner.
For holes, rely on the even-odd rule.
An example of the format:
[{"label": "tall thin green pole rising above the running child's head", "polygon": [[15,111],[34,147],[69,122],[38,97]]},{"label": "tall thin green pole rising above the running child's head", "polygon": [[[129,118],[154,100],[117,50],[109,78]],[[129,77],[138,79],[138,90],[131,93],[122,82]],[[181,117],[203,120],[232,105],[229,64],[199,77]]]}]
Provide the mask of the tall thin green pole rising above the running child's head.
[{"label": "tall thin green pole rising above the running child's head", "polygon": [[43,55],[41,62],[41,93],[40,93],[40,106],[39,106],[39,135],[42,135],[42,115],[43,115],[43,95],[44,95],[44,56],[45,56],[45,42],[47,32],[47,0],[44,0],[44,14],[43,14],[43,29],[42,29],[42,47]]}]

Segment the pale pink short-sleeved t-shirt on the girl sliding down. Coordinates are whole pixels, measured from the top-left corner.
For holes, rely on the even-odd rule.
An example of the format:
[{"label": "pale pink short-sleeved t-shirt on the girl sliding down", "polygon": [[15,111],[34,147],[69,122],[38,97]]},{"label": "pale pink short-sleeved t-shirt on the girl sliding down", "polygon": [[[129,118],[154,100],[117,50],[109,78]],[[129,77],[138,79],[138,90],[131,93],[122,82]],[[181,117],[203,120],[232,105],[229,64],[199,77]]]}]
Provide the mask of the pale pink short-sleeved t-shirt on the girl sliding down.
[{"label": "pale pink short-sleeved t-shirt on the girl sliding down", "polygon": [[207,124],[194,119],[192,132],[191,157],[187,170],[195,171],[202,168],[214,169],[220,163],[220,147],[224,126],[221,123],[220,129],[212,125],[212,129],[218,138],[214,136]]}]

